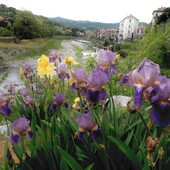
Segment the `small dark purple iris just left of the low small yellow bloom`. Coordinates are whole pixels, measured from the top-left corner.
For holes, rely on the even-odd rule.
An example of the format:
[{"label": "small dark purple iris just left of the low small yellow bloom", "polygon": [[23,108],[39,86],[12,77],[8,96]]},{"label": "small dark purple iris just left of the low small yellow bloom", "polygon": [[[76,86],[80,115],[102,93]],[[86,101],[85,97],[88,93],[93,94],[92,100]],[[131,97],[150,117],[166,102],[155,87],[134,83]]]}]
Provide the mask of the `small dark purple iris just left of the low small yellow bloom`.
[{"label": "small dark purple iris just left of the low small yellow bloom", "polygon": [[54,103],[51,105],[51,110],[55,112],[57,107],[64,105],[66,108],[68,108],[68,103],[65,102],[65,96],[62,93],[56,93],[56,96],[54,98]]}]

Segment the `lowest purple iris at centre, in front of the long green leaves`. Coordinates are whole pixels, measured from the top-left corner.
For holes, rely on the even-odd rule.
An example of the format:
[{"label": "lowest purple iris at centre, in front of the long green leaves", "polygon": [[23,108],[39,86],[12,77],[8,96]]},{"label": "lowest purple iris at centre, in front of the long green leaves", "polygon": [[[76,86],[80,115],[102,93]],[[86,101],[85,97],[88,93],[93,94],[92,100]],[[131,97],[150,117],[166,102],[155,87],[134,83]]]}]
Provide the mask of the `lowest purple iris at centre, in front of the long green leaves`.
[{"label": "lowest purple iris at centre, in front of the long green leaves", "polygon": [[97,141],[97,137],[102,134],[90,112],[79,115],[76,122],[79,126],[77,137],[81,141],[84,140],[85,133],[89,133],[93,141]]}]

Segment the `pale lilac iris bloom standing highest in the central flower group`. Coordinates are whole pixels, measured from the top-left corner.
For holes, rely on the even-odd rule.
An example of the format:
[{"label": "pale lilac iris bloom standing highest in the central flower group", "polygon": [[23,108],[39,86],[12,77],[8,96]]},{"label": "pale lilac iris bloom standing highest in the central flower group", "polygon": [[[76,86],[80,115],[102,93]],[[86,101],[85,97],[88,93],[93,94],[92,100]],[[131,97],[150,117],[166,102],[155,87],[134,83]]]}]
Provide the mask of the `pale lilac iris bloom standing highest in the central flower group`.
[{"label": "pale lilac iris bloom standing highest in the central flower group", "polygon": [[110,70],[113,74],[116,74],[116,67],[114,62],[116,60],[116,54],[110,50],[101,49],[97,54],[99,67],[106,72],[110,78]]}]

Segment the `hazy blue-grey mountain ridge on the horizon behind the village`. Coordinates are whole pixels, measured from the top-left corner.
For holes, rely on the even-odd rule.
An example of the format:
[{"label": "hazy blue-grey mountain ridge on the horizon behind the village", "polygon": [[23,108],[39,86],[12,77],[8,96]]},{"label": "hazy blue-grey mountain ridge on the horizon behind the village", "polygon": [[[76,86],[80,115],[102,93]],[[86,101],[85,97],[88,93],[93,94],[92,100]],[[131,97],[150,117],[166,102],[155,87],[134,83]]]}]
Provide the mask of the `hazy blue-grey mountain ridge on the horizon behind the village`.
[{"label": "hazy blue-grey mountain ridge on the horizon behind the village", "polygon": [[[119,22],[118,23],[102,23],[102,22],[92,22],[92,21],[75,21],[71,19],[66,19],[62,17],[54,17],[49,18],[50,20],[57,21],[64,23],[65,25],[68,25],[70,27],[76,27],[79,29],[88,29],[88,30],[98,30],[98,29],[118,29],[119,28]],[[144,25],[146,26],[147,23],[145,22],[139,22],[139,26]]]}]

